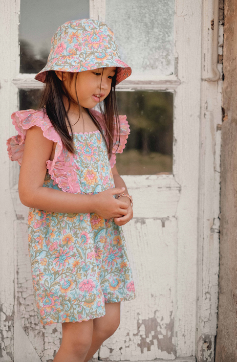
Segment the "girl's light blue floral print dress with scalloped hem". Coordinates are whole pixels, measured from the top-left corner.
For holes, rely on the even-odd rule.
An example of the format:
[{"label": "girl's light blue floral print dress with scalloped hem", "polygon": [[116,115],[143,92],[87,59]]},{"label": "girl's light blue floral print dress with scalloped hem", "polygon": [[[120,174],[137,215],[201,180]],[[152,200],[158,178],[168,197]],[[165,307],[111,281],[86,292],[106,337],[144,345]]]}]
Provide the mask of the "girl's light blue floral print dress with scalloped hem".
[{"label": "girl's light blue floral print dress with scalloped hem", "polygon": [[[21,162],[25,129],[36,124],[32,113],[30,119],[24,117],[25,114],[14,113],[19,135],[7,141],[12,160]],[[42,120],[48,125],[45,116],[36,116],[41,120],[38,119],[39,126]],[[44,134],[49,135],[46,131]],[[54,163],[54,169],[61,167],[61,177],[54,177],[49,167],[43,187],[66,191],[62,164],[66,165],[68,180],[73,179],[74,186],[77,184],[75,193],[95,194],[115,187],[101,132],[74,134],[74,146],[76,155],[61,149]],[[42,324],[102,317],[105,303],[135,298],[123,230],[113,219],[103,219],[96,213],[58,213],[29,208],[28,242],[34,297]]]}]

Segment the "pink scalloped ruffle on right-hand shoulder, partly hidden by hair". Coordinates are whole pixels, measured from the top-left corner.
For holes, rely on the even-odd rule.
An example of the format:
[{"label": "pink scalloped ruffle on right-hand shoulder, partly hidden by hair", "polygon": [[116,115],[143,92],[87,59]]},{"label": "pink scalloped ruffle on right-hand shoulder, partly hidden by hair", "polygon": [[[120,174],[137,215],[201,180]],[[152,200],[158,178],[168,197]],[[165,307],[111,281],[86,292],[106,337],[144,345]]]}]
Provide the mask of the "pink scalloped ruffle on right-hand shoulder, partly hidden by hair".
[{"label": "pink scalloped ruffle on right-hand shoulder, partly hidden by hair", "polygon": [[[108,137],[106,134],[105,121],[102,118],[102,114],[93,109],[90,109],[89,111],[96,117],[96,119],[100,123],[104,136],[105,136],[106,140],[108,141]],[[115,121],[115,118],[114,118],[114,121]],[[120,142],[119,142],[119,133],[115,131],[112,155],[111,155],[111,158],[109,159],[111,168],[116,163],[116,153],[123,152],[123,150],[125,149],[126,143],[128,141],[129,134],[130,134],[130,127],[129,127],[129,122],[127,121],[127,115],[119,115],[119,122],[120,122]],[[117,139],[117,137],[118,137],[118,139]],[[118,146],[118,143],[119,143],[119,146]]]}]

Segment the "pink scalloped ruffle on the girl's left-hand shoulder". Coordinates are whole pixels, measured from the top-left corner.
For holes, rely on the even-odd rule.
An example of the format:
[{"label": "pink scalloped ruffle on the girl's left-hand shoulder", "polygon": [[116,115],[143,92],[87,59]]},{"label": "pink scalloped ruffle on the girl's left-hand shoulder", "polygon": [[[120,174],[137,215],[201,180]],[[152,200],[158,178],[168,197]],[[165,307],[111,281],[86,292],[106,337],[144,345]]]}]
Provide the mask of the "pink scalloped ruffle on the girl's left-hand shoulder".
[{"label": "pink scalloped ruffle on the girl's left-hand shoulder", "polygon": [[46,161],[49,175],[63,191],[80,192],[74,169],[74,155],[63,146],[62,140],[47,114],[43,111],[26,110],[12,113],[11,118],[18,135],[10,137],[6,142],[9,158],[12,161],[18,161],[21,165],[27,130],[33,126],[41,127],[43,136],[57,143],[53,160]]}]

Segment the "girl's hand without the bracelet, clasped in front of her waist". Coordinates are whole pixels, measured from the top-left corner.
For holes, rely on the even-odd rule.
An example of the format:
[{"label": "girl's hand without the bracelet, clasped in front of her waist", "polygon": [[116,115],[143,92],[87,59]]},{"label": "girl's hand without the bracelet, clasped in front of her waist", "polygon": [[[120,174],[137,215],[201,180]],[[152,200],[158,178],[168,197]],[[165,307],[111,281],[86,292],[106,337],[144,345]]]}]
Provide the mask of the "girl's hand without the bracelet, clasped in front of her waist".
[{"label": "girl's hand without the bracelet, clasped in front of her waist", "polygon": [[115,199],[113,195],[124,192],[124,187],[114,187],[93,195],[95,212],[103,219],[122,217],[128,213],[128,203]]}]

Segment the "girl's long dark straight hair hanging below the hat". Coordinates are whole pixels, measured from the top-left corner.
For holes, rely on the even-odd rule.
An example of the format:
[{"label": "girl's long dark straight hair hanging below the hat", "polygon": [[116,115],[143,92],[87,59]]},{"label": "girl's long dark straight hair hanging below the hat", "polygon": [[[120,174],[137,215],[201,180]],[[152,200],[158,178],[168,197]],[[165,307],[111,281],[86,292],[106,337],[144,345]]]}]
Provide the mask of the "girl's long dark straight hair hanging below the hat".
[{"label": "girl's long dark straight hair hanging below the hat", "polygon": [[[102,77],[103,77],[104,68],[102,70]],[[77,75],[78,73],[71,73],[69,81],[72,82],[73,77],[75,79],[75,91],[76,91],[76,82],[77,82]],[[89,111],[89,109],[85,109],[86,112],[89,114],[95,125],[100,130],[108,149],[108,158],[112,155],[112,148],[113,148],[113,140],[114,136],[116,135],[116,143],[120,141],[120,124],[119,124],[119,116],[118,116],[118,108],[116,102],[116,93],[115,93],[115,83],[116,83],[116,75],[117,75],[117,68],[115,75],[112,77],[111,83],[111,91],[109,92],[108,96],[103,100],[103,107],[100,105],[100,112],[102,114],[102,118],[104,119],[105,127],[106,127],[106,135],[108,138],[108,142],[103,134],[102,128],[98,120],[93,116],[93,114]],[[102,81],[101,77],[101,81]],[[101,85],[100,85],[100,92],[101,92]],[[77,92],[76,92],[77,95]],[[63,102],[64,97],[68,101],[68,108],[65,109],[65,105]],[[45,86],[43,88],[43,92],[41,95],[41,99],[39,102],[39,109],[43,109],[46,112],[47,116],[49,117],[54,129],[58,132],[59,136],[62,139],[62,142],[65,148],[75,154],[75,149],[73,145],[73,132],[71,128],[71,123],[68,118],[68,111],[70,109],[70,104],[72,99],[65,89],[63,82],[58,78],[54,70],[49,70],[46,75],[45,79]],[[77,97],[77,103],[80,109],[79,100]],[[115,119],[115,122],[114,122]],[[66,120],[68,121],[69,128],[71,130],[71,135],[69,134],[68,127],[66,125]]]}]

